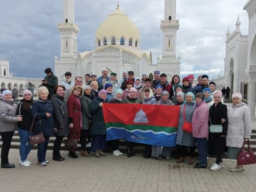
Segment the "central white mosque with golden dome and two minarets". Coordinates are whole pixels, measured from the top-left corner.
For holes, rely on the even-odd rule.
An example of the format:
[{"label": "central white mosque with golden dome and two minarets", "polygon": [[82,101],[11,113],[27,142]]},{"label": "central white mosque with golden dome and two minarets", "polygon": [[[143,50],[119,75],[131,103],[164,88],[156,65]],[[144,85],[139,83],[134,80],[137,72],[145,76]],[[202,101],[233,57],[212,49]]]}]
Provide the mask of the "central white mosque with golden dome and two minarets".
[{"label": "central white mosque with golden dome and two minarets", "polygon": [[163,54],[157,64],[152,63],[151,51],[140,49],[140,33],[119,5],[99,26],[92,51],[76,54],[79,27],[74,23],[73,0],[63,0],[63,23],[58,29],[61,52],[59,59],[55,57],[55,75],[59,80],[64,78],[66,71],[73,76],[86,73],[101,76],[103,68],[108,69],[108,74],[115,72],[117,79],[121,79],[123,71],[130,70],[134,71],[135,77],[141,77],[142,73],[149,74],[158,69],[166,73],[169,80],[174,74],[180,74],[180,57],[176,59],[176,32],[179,29],[176,0],[165,0],[165,20],[161,21]]}]

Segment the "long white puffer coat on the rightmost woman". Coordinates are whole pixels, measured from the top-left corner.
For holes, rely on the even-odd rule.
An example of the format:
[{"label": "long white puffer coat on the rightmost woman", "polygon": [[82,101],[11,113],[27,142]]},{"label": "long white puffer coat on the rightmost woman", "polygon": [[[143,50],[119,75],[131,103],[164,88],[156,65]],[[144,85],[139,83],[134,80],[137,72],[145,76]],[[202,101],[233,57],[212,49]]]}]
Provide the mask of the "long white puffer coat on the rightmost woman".
[{"label": "long white puffer coat on the rightmost woman", "polygon": [[227,109],[227,138],[226,144],[229,147],[241,148],[244,138],[251,138],[251,113],[250,108],[243,102],[232,105]]}]

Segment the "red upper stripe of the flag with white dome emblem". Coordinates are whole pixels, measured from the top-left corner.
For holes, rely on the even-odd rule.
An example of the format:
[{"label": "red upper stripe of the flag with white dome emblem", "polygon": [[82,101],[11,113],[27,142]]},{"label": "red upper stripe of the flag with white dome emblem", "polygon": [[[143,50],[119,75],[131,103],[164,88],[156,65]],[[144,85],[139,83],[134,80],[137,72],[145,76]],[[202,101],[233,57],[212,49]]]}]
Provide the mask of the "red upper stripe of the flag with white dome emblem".
[{"label": "red upper stripe of the flag with white dome emblem", "polygon": [[179,105],[109,104],[104,103],[105,123],[141,124],[178,127]]}]

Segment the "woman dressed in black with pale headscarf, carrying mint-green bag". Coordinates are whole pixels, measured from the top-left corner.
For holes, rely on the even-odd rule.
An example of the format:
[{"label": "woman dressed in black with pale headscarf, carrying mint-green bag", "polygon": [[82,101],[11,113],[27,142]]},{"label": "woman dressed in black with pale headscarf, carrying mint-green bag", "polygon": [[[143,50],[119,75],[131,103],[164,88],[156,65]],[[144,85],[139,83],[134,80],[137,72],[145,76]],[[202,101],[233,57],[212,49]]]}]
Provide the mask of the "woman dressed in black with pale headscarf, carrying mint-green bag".
[{"label": "woman dressed in black with pale headscarf, carrying mint-green bag", "polygon": [[[226,150],[226,135],[227,135],[227,105],[222,104],[221,91],[215,91],[213,94],[214,104],[210,107],[210,125],[222,125],[222,133],[210,133],[208,146],[210,154],[216,155],[216,161],[213,163],[211,170],[221,169],[222,155]],[[224,122],[224,119],[226,120]],[[222,123],[222,121],[224,123]]]}]

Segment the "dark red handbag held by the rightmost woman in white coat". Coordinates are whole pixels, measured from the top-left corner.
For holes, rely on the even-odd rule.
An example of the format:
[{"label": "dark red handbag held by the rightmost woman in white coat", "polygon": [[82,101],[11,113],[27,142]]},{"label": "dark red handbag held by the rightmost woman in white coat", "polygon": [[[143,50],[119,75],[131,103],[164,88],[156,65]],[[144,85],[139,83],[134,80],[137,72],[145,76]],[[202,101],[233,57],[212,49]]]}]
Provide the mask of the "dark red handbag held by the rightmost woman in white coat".
[{"label": "dark red handbag held by the rightmost woman in white coat", "polygon": [[244,140],[243,146],[240,149],[240,152],[238,152],[237,155],[237,164],[238,165],[249,165],[256,163],[256,157],[254,155],[254,152],[252,151],[251,146],[249,145],[249,139],[247,139],[247,151],[244,149],[244,144],[246,140]]}]

